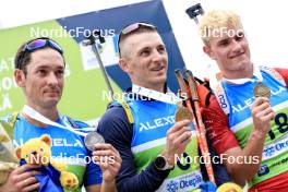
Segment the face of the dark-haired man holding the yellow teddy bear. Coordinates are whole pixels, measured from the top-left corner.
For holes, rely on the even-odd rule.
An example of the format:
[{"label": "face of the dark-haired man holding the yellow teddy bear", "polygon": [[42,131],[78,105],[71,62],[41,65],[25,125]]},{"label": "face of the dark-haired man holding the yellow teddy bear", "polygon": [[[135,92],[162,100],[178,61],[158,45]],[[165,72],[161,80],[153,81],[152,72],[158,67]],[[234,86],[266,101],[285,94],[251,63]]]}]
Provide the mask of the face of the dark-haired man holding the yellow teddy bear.
[{"label": "face of the dark-haired man holding the yellow teddy bear", "polygon": [[27,104],[36,109],[56,107],[64,83],[62,56],[50,48],[36,50],[31,53],[26,72],[26,76],[21,72],[21,80],[16,81],[24,88]]}]

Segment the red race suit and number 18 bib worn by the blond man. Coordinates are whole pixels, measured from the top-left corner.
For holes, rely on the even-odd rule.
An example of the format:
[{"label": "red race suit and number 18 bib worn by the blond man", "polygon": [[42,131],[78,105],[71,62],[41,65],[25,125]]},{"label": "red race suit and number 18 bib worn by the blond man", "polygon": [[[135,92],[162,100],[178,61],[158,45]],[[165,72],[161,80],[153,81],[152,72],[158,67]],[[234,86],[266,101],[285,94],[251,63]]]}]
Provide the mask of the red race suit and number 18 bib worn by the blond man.
[{"label": "red race suit and number 18 bib worn by the blond man", "polygon": [[[288,70],[260,68],[263,84],[269,87],[271,106],[276,112],[272,130],[267,133],[260,170],[249,182],[250,191],[287,191],[288,189]],[[280,74],[280,75],[279,75]],[[230,84],[221,81],[211,105],[203,109],[209,139],[218,154],[245,146],[253,129],[250,106],[253,103],[254,81]],[[219,91],[223,89],[223,91]],[[218,93],[217,93],[218,92]],[[221,93],[221,94],[219,94]],[[218,100],[217,100],[218,99]],[[227,112],[228,111],[228,112]],[[248,161],[248,164],[253,160]]]}]

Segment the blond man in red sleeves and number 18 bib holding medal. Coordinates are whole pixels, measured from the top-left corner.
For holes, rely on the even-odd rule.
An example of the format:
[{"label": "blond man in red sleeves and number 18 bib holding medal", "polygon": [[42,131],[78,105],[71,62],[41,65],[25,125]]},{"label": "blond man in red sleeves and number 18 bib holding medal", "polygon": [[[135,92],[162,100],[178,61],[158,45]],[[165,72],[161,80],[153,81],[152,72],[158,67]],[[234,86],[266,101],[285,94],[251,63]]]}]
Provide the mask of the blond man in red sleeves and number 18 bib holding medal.
[{"label": "blond man in red sleeves and number 18 bib holding medal", "polygon": [[229,173],[239,184],[248,182],[249,191],[286,192],[288,70],[251,62],[241,20],[231,11],[204,14],[200,33],[204,52],[221,72],[203,110],[213,146],[226,155]]}]

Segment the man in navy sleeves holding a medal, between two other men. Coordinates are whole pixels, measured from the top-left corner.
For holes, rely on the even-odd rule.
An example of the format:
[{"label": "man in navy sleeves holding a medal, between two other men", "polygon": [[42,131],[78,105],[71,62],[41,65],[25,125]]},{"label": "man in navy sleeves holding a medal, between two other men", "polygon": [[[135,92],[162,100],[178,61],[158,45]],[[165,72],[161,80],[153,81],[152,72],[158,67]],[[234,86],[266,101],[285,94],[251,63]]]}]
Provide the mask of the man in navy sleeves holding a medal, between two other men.
[{"label": "man in navy sleeves holding a medal, between two other men", "polygon": [[[133,23],[121,31],[118,46],[132,89],[124,103],[108,108],[98,125],[122,158],[118,191],[216,191],[193,160],[199,147],[190,115],[180,109],[176,116],[180,99],[167,93],[168,56],[156,27]],[[191,163],[176,159],[187,156]],[[229,180],[223,168],[215,168],[217,184]]]}]

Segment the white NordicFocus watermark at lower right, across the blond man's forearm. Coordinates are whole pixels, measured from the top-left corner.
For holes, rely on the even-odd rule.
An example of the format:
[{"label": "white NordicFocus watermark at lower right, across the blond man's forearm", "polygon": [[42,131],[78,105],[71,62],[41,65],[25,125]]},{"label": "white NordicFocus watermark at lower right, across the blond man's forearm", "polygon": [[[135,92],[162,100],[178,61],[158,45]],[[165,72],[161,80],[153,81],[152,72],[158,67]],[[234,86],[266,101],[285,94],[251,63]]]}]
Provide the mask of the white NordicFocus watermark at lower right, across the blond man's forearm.
[{"label": "white NordicFocus watermark at lower right, across the blond man's forearm", "polygon": [[211,158],[206,158],[207,156],[190,156],[187,153],[182,155],[175,155],[175,161],[179,161],[180,164],[208,164],[208,159],[213,164],[224,164],[225,161],[228,164],[259,164],[259,156],[228,156],[227,154],[220,154],[220,156],[213,156]]}]

